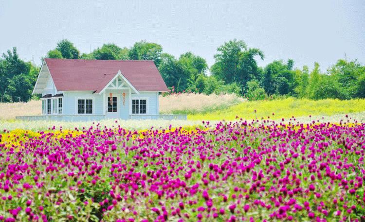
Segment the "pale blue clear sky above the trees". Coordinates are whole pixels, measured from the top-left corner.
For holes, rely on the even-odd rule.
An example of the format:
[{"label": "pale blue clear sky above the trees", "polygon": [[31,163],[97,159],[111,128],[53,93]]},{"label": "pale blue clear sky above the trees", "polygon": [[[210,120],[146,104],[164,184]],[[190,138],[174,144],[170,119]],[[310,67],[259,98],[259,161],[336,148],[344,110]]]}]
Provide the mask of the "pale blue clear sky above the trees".
[{"label": "pale blue clear sky above the trees", "polygon": [[37,65],[64,38],[81,53],[146,40],[176,58],[192,51],[209,66],[234,38],[264,52],[259,66],[290,58],[294,67],[318,62],[326,70],[345,56],[365,64],[364,0],[0,0],[0,24],[0,53],[17,47]]}]

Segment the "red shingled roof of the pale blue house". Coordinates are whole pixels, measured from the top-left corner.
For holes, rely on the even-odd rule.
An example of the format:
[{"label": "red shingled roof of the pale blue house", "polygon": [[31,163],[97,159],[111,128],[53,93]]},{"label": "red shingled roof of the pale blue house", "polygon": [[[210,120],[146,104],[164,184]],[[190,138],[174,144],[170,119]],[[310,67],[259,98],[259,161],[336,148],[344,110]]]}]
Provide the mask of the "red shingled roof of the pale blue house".
[{"label": "red shingled roof of the pale blue house", "polygon": [[120,70],[138,91],[168,91],[153,61],[44,59],[58,91],[100,92]]}]

